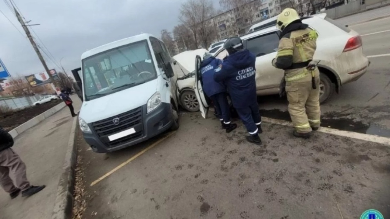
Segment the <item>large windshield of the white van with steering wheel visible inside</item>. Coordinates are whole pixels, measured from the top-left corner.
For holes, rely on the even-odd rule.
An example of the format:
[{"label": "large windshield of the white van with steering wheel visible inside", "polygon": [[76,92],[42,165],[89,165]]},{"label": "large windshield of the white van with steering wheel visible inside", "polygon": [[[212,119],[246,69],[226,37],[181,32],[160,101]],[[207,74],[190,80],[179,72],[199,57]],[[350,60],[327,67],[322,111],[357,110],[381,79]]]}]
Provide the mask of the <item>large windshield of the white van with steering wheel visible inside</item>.
[{"label": "large windshield of the white van with steering wheel visible inside", "polygon": [[82,73],[87,101],[157,78],[146,40],[83,59]]}]

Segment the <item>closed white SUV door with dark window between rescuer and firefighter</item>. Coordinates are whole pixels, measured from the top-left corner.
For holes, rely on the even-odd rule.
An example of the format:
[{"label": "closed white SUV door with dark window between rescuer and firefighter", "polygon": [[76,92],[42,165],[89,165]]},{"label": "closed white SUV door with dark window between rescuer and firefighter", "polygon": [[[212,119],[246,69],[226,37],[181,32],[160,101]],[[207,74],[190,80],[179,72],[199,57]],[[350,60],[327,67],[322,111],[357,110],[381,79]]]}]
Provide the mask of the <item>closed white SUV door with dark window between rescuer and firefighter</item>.
[{"label": "closed white SUV door with dark window between rescuer and firefighter", "polygon": [[279,88],[284,71],[272,66],[279,46],[277,32],[270,32],[246,39],[244,46],[256,56],[257,90]]}]

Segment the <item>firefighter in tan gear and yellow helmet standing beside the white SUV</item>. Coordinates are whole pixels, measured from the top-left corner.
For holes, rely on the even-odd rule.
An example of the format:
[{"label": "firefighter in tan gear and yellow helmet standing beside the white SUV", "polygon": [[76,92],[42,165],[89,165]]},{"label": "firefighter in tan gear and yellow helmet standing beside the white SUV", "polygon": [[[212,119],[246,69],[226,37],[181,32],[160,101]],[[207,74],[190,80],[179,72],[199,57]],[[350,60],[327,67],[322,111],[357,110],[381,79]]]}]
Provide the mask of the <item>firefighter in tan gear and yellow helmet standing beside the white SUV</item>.
[{"label": "firefighter in tan gear and yellow helmet standing beside the white SUV", "polygon": [[284,69],[288,110],[298,138],[309,138],[320,126],[319,70],[313,60],[318,35],[303,24],[298,13],[286,8],[278,15],[281,31],[272,65]]}]

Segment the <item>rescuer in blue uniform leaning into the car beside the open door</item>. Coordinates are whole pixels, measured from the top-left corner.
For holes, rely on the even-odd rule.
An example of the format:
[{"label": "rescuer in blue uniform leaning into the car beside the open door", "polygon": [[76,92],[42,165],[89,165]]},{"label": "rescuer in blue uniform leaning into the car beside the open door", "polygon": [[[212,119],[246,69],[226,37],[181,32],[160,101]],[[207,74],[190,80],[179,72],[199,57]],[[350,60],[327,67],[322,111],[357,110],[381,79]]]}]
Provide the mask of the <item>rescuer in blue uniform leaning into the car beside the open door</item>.
[{"label": "rescuer in blue uniform leaning into the car beside the open door", "polygon": [[225,85],[214,81],[214,70],[220,64],[222,64],[222,60],[213,57],[210,53],[204,53],[203,61],[200,63],[200,73],[202,74],[203,91],[213,101],[222,128],[229,133],[236,129],[237,125],[230,123],[229,103],[227,102]]}]

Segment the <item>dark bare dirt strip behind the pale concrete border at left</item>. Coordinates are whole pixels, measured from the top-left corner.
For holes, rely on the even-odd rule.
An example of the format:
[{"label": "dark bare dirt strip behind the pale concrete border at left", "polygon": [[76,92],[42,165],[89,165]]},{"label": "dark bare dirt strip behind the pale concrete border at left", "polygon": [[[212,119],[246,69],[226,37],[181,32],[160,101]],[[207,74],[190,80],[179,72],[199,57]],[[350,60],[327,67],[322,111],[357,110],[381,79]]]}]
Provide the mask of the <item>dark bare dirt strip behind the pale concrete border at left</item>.
[{"label": "dark bare dirt strip behind the pale concrete border at left", "polygon": [[0,117],[0,125],[6,131],[11,131],[19,125],[43,113],[44,111],[56,106],[60,102],[62,101],[53,100],[51,102],[44,103],[38,106],[32,106],[29,108],[22,109],[20,111],[12,113],[11,115],[3,115],[2,117]]}]

